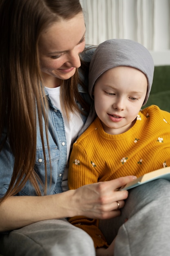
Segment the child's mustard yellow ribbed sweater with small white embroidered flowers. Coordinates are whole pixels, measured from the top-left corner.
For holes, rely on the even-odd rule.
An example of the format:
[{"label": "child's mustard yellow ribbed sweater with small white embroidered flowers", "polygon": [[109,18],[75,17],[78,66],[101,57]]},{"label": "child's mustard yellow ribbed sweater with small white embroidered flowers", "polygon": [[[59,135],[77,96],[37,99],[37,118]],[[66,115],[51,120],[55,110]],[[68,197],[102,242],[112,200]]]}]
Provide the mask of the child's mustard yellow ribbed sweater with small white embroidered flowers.
[{"label": "child's mustard yellow ribbed sweater with small white embroidered flowers", "polygon": [[[152,105],[137,117],[130,130],[119,135],[104,132],[97,117],[73,145],[68,172],[69,189],[170,166],[170,113]],[[84,229],[95,247],[107,245],[98,220],[84,216],[69,221]]]}]

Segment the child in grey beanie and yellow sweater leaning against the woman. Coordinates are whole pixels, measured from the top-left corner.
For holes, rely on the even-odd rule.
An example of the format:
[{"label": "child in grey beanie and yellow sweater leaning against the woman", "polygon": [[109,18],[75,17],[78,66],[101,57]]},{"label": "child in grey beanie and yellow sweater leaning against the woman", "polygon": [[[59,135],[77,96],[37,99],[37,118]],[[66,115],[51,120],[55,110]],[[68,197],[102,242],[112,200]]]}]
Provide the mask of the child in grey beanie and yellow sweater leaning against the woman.
[{"label": "child in grey beanie and yellow sweater leaning against the woman", "polygon": [[[170,166],[170,113],[154,105],[141,110],[153,73],[149,51],[137,42],[113,39],[97,47],[89,72],[97,118],[73,145],[69,189]],[[70,222],[88,232],[95,247],[107,246],[97,220]]]}]

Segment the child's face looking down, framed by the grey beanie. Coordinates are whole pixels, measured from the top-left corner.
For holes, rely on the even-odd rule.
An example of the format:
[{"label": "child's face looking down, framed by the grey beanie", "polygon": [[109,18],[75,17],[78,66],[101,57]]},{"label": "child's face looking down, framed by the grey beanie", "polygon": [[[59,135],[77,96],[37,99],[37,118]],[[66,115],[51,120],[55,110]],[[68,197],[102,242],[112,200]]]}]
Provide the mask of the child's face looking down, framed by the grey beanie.
[{"label": "child's face looking down, framed by the grey beanie", "polygon": [[133,67],[114,67],[94,86],[95,110],[104,131],[120,134],[135,124],[147,92],[147,78]]}]

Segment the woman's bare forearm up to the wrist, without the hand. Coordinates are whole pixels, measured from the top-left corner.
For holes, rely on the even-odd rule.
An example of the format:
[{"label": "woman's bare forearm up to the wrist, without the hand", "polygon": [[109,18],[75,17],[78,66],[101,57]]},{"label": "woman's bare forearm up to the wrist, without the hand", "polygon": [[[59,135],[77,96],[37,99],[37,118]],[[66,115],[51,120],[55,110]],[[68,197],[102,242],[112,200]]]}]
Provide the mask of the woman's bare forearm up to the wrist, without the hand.
[{"label": "woman's bare forearm up to the wrist, without the hand", "polygon": [[67,216],[71,192],[46,196],[11,196],[0,204],[0,231]]}]

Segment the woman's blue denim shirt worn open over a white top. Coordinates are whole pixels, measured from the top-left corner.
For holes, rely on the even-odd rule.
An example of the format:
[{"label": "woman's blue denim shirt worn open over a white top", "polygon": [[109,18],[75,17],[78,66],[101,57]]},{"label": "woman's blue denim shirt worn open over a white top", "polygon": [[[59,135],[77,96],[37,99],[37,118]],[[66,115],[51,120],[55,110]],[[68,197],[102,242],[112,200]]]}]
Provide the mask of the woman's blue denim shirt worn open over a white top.
[{"label": "woman's blue denim shirt worn open over a white top", "polygon": [[[95,48],[90,48],[84,53],[82,53],[82,59],[84,61],[90,62],[91,56],[93,55]],[[88,78],[82,77],[84,83],[88,86]],[[79,93],[82,97],[88,102],[91,103],[90,96],[83,90],[81,85],[78,85]],[[57,109],[53,102],[51,101],[47,91],[46,97],[49,100],[49,150],[47,146],[46,136],[44,136],[44,145],[45,145],[45,154],[46,154],[46,166],[47,166],[47,195],[61,193],[62,190],[62,178],[64,175],[64,170],[66,168],[66,159],[67,159],[67,145],[66,145],[66,132],[64,127],[64,119],[62,113]],[[77,102],[79,109],[82,109],[82,106]],[[81,115],[84,127],[79,132],[79,135],[86,130],[86,128],[91,124],[94,119],[95,112],[93,111],[93,103],[91,105],[92,111],[88,118],[85,115]],[[45,135],[45,126],[43,125],[43,132]],[[6,132],[2,134],[2,138],[6,136]],[[25,152],[26,154],[26,152]],[[50,164],[51,163],[51,164]],[[8,139],[6,140],[1,152],[0,152],[0,197],[2,197],[8,189],[9,183],[11,181],[12,173],[14,166],[14,156],[11,152]],[[42,150],[42,141],[40,137],[39,126],[37,126],[37,148],[36,148],[36,160],[35,160],[35,171],[40,176],[43,184],[45,184],[45,162],[44,154]],[[52,181],[50,185],[50,176],[52,174]],[[44,189],[40,186],[42,195]],[[32,184],[27,181],[23,189],[17,195],[36,195],[35,189]]]}]

